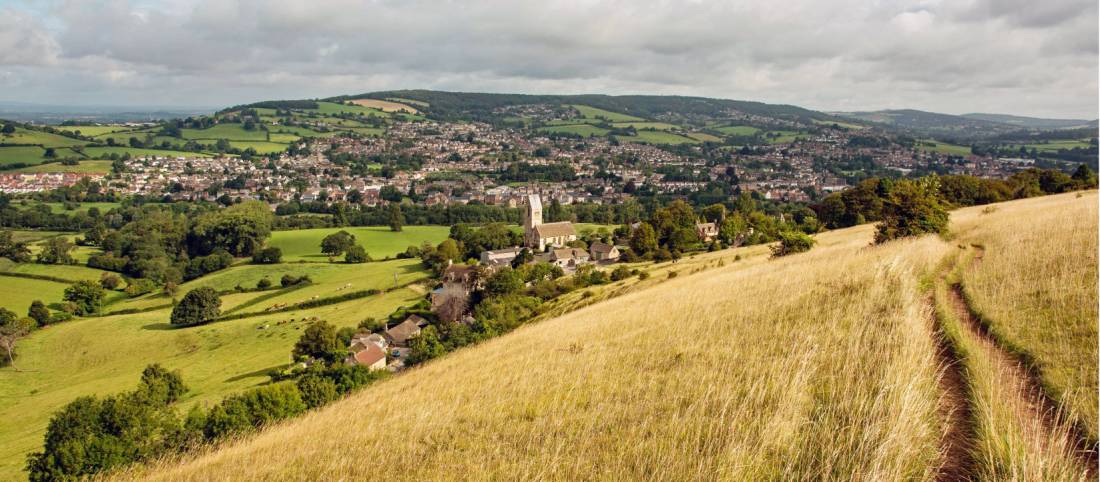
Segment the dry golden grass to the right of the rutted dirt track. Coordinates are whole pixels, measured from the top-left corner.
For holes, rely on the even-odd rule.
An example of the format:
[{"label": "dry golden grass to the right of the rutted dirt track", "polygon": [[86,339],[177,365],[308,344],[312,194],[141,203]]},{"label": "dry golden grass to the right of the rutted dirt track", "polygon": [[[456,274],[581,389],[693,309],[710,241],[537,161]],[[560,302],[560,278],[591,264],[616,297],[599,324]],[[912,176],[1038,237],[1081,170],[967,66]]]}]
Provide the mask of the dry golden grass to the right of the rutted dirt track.
[{"label": "dry golden grass to the right of the rutted dirt track", "polygon": [[1097,193],[1048,196],[957,216],[985,247],[967,297],[997,340],[1034,360],[1048,393],[1097,439]]}]

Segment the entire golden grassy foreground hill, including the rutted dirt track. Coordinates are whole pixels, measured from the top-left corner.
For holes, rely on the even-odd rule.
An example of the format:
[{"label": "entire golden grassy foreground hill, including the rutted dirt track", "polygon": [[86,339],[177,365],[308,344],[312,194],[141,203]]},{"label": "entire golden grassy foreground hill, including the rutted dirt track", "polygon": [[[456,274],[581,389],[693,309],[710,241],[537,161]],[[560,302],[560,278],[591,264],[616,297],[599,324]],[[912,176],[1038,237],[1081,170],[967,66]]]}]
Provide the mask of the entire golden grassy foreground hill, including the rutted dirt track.
[{"label": "entire golden grassy foreground hill, including the rutted dirt track", "polygon": [[116,476],[1094,480],[1096,191],[952,218],[950,241],[869,247],[860,226],[778,260],[755,247],[670,263],[680,275],[661,284],[609,285],[591,296],[605,302]]}]

